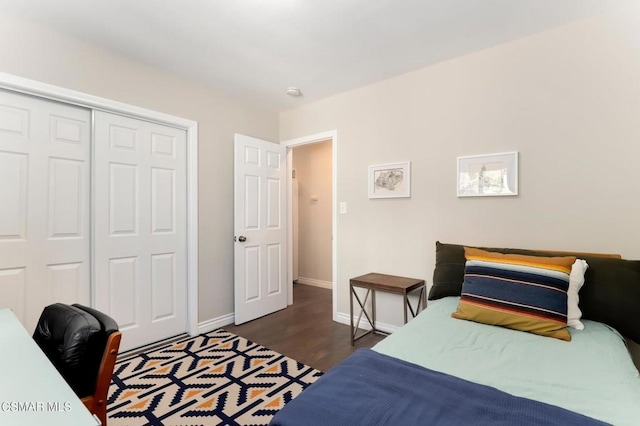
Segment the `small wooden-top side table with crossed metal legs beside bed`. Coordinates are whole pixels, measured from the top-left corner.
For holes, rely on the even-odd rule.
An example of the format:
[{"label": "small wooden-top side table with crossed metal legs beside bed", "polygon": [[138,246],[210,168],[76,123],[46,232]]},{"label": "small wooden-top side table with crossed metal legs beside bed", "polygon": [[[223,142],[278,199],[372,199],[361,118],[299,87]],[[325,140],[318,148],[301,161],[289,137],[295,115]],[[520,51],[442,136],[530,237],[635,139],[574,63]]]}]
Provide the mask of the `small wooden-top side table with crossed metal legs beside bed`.
[{"label": "small wooden-top side table with crossed metal legs beside bed", "polygon": [[[358,294],[356,293],[355,288],[366,288],[367,293],[363,300],[360,300]],[[411,306],[411,302],[407,297],[409,293],[413,291],[420,290],[420,294],[418,295],[418,304],[416,305],[416,310],[413,310],[413,306]],[[353,343],[366,336],[370,333],[379,333],[388,335],[389,333],[384,332],[382,330],[378,330],[376,328],[376,291],[384,291],[387,293],[401,294],[403,297],[403,305],[404,305],[404,323],[407,323],[407,307],[409,311],[411,311],[411,315],[415,318],[418,314],[419,309],[425,309],[427,307],[427,299],[426,299],[426,287],[424,280],[418,280],[415,278],[405,278],[398,277],[395,275],[385,275],[385,274],[377,274],[371,273],[362,275],[360,277],[351,278],[349,280],[349,313],[351,314],[351,346]],[[367,299],[369,298],[369,294],[371,294],[371,315],[365,309]],[[358,320],[353,322],[353,298],[355,297],[358,305],[360,305],[360,313],[358,314]],[[371,330],[366,333],[356,337],[358,332],[358,324],[360,324],[360,319],[362,318],[362,314],[367,318],[369,324],[371,325]]]}]

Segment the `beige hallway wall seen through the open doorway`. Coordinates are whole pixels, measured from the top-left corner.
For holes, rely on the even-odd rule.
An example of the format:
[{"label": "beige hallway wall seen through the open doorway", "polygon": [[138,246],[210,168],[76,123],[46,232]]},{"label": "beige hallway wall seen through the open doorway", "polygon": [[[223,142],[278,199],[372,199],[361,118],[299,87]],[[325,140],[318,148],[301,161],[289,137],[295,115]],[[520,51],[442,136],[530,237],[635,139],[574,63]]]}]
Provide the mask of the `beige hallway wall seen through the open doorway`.
[{"label": "beige hallway wall seen through the open doorway", "polygon": [[[293,149],[298,180],[298,273],[300,279],[332,281],[331,141]],[[317,196],[318,200],[311,198]]]}]

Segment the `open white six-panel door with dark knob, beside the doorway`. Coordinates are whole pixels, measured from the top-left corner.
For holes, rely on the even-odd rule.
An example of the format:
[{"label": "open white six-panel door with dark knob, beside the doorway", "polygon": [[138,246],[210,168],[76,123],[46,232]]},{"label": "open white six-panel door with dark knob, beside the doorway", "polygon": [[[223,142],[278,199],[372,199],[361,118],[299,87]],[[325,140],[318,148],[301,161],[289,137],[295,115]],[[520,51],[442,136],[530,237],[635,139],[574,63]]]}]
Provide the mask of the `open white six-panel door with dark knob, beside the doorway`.
[{"label": "open white six-panel door with dark knob, beside the doorway", "polygon": [[286,148],[235,135],[235,323],[287,307]]}]

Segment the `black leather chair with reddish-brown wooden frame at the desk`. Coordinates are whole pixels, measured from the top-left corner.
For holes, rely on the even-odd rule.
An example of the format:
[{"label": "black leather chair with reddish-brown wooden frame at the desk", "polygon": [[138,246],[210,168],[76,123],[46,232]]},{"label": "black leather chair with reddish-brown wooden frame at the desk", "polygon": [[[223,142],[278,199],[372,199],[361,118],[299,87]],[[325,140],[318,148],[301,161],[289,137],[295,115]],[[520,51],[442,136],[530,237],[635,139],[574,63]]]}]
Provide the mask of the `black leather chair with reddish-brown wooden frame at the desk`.
[{"label": "black leather chair with reddish-brown wooden frame at the desk", "polygon": [[107,393],[120,347],[118,324],[82,305],[42,311],[33,339],[89,411],[107,424]]}]

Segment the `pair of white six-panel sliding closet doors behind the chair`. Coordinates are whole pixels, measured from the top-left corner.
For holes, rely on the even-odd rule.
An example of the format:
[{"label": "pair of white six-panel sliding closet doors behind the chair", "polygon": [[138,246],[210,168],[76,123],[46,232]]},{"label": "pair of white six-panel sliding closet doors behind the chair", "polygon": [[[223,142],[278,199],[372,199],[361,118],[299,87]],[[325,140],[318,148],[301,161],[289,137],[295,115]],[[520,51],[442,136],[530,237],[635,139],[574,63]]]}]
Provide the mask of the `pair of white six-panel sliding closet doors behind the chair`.
[{"label": "pair of white six-panel sliding closet doors behind the chair", "polygon": [[186,185],[185,130],[0,90],[0,308],[92,305],[121,350],[183,333]]}]

